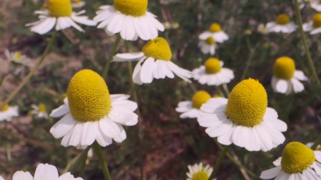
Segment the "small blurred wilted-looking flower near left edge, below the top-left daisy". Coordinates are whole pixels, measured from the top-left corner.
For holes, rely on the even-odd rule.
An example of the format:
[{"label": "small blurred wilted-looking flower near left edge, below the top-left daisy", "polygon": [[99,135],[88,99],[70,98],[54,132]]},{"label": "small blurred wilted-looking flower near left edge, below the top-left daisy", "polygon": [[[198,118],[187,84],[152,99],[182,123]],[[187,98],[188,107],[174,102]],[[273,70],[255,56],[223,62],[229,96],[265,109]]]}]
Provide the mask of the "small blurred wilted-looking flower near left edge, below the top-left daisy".
[{"label": "small blurred wilted-looking flower near left edge, below the top-left daisy", "polygon": [[[23,73],[26,68],[34,65],[26,55],[21,54],[20,52],[10,52],[8,49],[6,49],[5,55],[7,60],[9,60],[11,63],[12,72],[16,75]],[[0,60],[4,59],[0,58]]]}]

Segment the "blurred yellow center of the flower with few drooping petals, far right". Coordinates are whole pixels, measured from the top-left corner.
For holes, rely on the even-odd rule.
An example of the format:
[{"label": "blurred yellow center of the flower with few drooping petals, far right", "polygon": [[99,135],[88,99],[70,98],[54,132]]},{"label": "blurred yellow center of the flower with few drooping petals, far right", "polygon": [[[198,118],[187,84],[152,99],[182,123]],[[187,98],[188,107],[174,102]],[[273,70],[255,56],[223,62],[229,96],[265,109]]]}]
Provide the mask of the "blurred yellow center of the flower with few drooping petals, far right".
[{"label": "blurred yellow center of the flower with few drooping petals, far right", "polygon": [[275,60],[273,66],[274,76],[281,79],[291,79],[294,75],[295,64],[294,60],[290,57],[283,56]]}]

